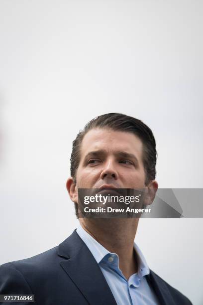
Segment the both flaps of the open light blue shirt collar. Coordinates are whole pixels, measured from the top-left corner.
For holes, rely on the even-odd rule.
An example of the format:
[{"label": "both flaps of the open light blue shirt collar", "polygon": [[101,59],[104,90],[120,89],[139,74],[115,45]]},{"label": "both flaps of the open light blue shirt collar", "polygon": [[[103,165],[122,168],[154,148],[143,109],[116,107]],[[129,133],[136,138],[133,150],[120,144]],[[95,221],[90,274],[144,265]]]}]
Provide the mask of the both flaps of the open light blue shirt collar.
[{"label": "both flaps of the open light blue shirt collar", "polygon": [[[113,257],[117,256],[115,253],[110,253],[107,249],[105,249],[96,239],[94,239],[87,231],[83,229],[81,224],[79,224],[76,232],[80,236],[80,238],[84,241],[86,246],[89,248],[90,252],[94,256],[96,262],[100,264],[101,262],[104,263],[106,258],[108,258],[110,255]],[[137,274],[140,277],[144,277],[145,275],[150,273],[149,267],[147,265],[147,262],[139,249],[139,247],[134,242],[134,249],[137,254],[137,260],[138,260],[138,272]],[[108,254],[108,255],[107,255]],[[104,258],[105,257],[105,258]],[[118,264],[118,260],[117,264]]]}]

